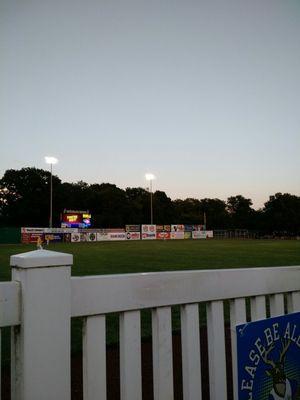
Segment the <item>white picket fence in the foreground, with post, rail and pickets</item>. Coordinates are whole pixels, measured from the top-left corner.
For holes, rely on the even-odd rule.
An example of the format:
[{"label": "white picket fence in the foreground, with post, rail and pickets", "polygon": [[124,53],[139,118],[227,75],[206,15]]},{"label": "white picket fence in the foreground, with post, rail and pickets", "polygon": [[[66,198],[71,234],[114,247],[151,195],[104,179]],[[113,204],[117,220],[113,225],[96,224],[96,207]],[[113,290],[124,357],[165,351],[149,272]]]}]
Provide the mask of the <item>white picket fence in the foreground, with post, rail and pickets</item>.
[{"label": "white picket fence in the foreground, with post, rail and pickets", "polygon": [[140,311],[152,312],[154,400],[172,400],[171,306],[181,306],[184,400],[201,400],[198,304],[206,303],[211,400],[226,400],[224,301],[234,328],[300,310],[300,267],[201,270],[72,277],[70,254],[37,250],[11,257],[12,281],[0,283],[0,328],[12,327],[12,400],[70,399],[70,321],[84,318],[84,400],[106,400],[106,317],[120,313],[121,400],[142,399]]}]

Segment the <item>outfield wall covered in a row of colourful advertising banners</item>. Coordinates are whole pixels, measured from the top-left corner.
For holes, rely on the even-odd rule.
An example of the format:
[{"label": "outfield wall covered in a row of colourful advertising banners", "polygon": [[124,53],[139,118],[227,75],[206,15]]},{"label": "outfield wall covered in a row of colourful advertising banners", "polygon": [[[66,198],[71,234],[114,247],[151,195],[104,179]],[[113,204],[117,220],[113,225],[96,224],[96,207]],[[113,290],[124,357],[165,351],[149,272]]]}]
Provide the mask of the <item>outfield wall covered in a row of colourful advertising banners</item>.
[{"label": "outfield wall covered in a row of colourful advertising banners", "polygon": [[103,242],[128,240],[187,240],[213,238],[203,225],[126,225],[125,228],[21,228],[22,243]]}]

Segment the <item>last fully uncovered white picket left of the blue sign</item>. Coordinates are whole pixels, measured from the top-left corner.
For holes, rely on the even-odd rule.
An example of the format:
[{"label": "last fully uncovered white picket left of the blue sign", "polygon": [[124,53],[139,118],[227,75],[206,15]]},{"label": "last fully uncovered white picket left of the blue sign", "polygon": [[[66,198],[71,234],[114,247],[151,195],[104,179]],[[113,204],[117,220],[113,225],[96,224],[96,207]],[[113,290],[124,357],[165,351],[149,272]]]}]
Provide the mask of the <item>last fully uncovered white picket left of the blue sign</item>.
[{"label": "last fully uncovered white picket left of the blue sign", "polygon": [[207,336],[209,360],[210,399],[227,397],[225,331],[222,301],[207,304]]}]

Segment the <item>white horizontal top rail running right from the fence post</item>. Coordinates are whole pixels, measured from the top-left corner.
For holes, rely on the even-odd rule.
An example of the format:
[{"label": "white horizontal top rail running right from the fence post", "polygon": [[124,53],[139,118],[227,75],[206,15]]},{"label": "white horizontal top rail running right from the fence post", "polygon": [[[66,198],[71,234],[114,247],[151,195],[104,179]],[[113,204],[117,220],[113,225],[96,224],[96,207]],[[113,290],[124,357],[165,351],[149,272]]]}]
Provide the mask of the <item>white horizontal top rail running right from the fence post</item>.
[{"label": "white horizontal top rail running right from the fence post", "polygon": [[71,278],[72,317],[295,292],[300,267],[157,272]]}]

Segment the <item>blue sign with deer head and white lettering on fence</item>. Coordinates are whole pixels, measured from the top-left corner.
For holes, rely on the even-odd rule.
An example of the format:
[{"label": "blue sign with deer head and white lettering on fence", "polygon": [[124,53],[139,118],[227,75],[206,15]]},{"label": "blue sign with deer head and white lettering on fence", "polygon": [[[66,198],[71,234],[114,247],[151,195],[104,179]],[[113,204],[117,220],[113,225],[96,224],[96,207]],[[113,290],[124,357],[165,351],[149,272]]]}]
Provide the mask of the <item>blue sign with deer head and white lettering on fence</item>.
[{"label": "blue sign with deer head and white lettering on fence", "polygon": [[236,327],[239,400],[300,399],[300,313]]}]

